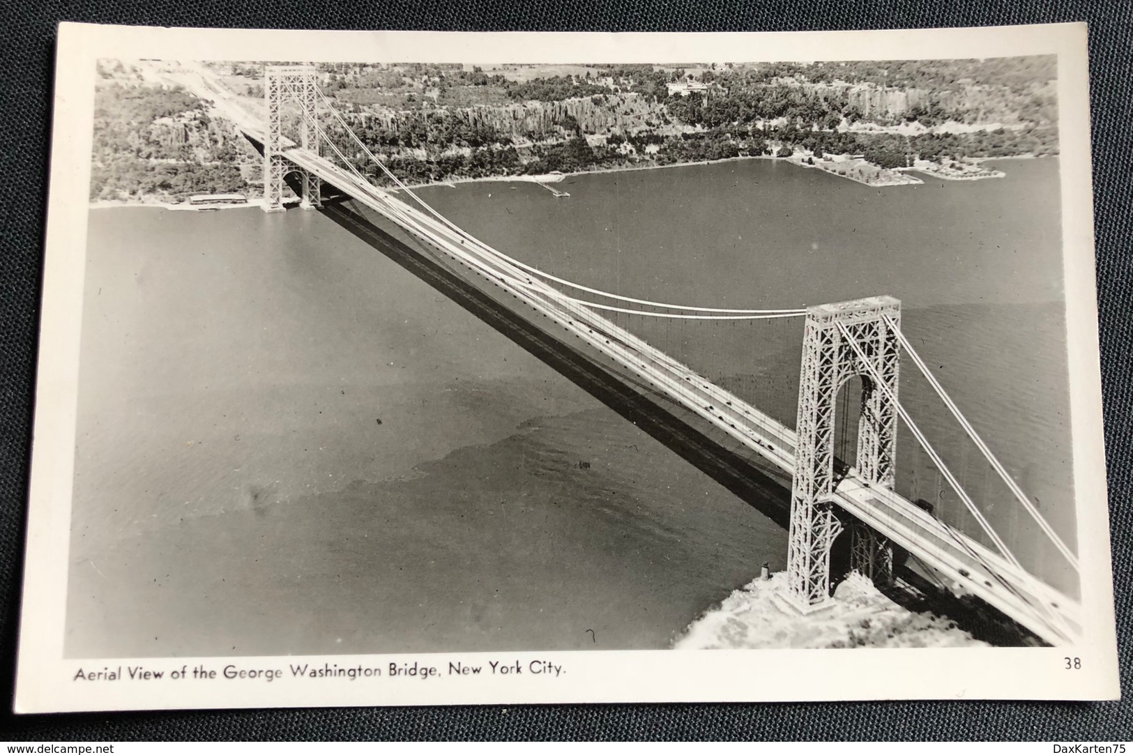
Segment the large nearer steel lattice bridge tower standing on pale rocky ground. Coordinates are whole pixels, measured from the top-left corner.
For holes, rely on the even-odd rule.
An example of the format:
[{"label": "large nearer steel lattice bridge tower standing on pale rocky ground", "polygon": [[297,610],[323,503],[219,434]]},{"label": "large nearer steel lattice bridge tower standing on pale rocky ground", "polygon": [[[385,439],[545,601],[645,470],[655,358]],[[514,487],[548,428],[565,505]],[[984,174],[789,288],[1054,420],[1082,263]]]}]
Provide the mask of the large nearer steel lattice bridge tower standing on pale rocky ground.
[{"label": "large nearer steel lattice bridge tower standing on pale rocky ground", "polygon": [[[836,408],[840,389],[861,378],[855,467],[868,484],[893,489],[901,345],[886,322],[900,323],[901,303],[891,296],[823,304],[807,309],[795,470],[787,540],[787,601],[803,612],[823,608],[830,593],[830,548],[845,528],[832,497],[845,472],[835,464]],[[847,336],[868,359],[850,345]],[[880,390],[876,372],[888,391]],[[872,579],[892,570],[888,543],[866,525],[850,523],[850,566]]]}]

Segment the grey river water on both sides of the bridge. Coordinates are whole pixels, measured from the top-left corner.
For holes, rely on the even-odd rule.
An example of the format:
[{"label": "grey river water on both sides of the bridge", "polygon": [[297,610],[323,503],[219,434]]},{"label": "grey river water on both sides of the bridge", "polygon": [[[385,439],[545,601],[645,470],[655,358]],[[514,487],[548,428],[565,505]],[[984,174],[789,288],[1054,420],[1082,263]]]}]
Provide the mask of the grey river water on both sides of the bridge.
[{"label": "grey river water on both sides of the bridge", "polygon": [[[750,160],[569,177],[569,198],[421,195],[645,299],[896,296],[1073,542],[1058,162],[999,167],[879,189]],[[784,566],[782,529],[318,213],[94,210],[86,265],[70,656],[664,647]],[[798,321],[641,326],[793,425]],[[1076,592],[911,363],[901,391],[1024,565]],[[973,532],[912,442],[898,489]]]}]

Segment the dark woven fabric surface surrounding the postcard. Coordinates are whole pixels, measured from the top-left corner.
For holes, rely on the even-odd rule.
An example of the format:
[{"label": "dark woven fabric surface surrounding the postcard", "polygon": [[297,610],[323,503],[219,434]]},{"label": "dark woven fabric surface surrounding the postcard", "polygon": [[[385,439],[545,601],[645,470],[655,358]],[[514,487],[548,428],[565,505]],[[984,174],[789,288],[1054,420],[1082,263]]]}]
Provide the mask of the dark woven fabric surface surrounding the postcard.
[{"label": "dark woven fabric surface surrounding the postcard", "polygon": [[[1090,24],[1093,186],[1122,686],[1133,694],[1128,499],[1133,5],[1034,0],[43,0],[0,7],[0,739],[1053,739],[1133,738],[1133,704],[547,705],[14,716],[25,495],[60,20],[154,26],[528,31],[785,31]],[[774,680],[761,680],[774,684]]]}]

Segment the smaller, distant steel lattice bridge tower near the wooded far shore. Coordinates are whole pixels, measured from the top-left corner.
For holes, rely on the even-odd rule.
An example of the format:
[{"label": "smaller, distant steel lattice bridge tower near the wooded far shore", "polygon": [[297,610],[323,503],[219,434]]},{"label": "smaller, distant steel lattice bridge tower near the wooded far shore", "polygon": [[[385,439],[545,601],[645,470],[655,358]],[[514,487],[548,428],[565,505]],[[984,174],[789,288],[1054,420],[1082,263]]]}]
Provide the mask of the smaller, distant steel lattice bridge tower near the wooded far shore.
[{"label": "smaller, distant steel lattice bridge tower near the wooded far shore", "polygon": [[[318,154],[318,91],[314,66],[264,66],[264,103],[267,130],[264,134],[264,211],[283,210],[283,177],[296,172],[301,185],[299,206],[321,204],[322,185],[317,176],[288,164],[283,153],[293,146]],[[289,103],[299,108],[298,143],[283,134],[283,113]]]}]

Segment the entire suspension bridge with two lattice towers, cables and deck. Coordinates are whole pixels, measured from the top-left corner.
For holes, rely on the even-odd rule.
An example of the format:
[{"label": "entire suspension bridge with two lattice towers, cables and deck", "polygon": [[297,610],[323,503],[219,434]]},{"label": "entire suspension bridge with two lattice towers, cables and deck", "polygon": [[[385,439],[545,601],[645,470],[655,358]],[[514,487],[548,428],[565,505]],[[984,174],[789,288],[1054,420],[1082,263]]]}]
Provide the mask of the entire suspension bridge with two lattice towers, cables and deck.
[{"label": "entire suspension bridge with two lattice towers, cables and deck", "polygon": [[[789,528],[787,587],[781,595],[785,606],[810,613],[829,605],[832,549],[845,532],[850,569],[877,583],[892,578],[898,549],[943,588],[980,599],[1046,643],[1071,644],[1080,636],[1077,602],[1023,567],[1010,548],[1011,533],[997,531],[986,515],[989,502],[969,493],[902,405],[900,367],[911,364],[1002,480],[1002,499],[1017,506],[1076,574],[1074,546],[1046,520],[902,332],[896,299],[875,296],[793,309],[742,309],[654,302],[583,286],[493,248],[417,196],[320,90],[314,68],[265,67],[262,112],[239,102],[206,71],[179,74],[178,83],[213,100],[262,150],[265,210],[283,209],[284,177],[295,181],[304,207],[323,206],[330,194],[365,207],[395,227],[412,255],[520,319],[557,353],[610,375],[658,407],[674,426],[695,435],[708,456],[731,459],[741,473],[748,469],[790,490],[783,518]],[[372,176],[384,177],[392,188],[380,187]],[[802,323],[793,429],[623,324],[768,321]],[[751,351],[756,358],[756,349]],[[861,402],[851,466],[835,447],[840,390],[853,378],[861,381]],[[895,492],[898,424],[962,502],[974,532]]]}]

